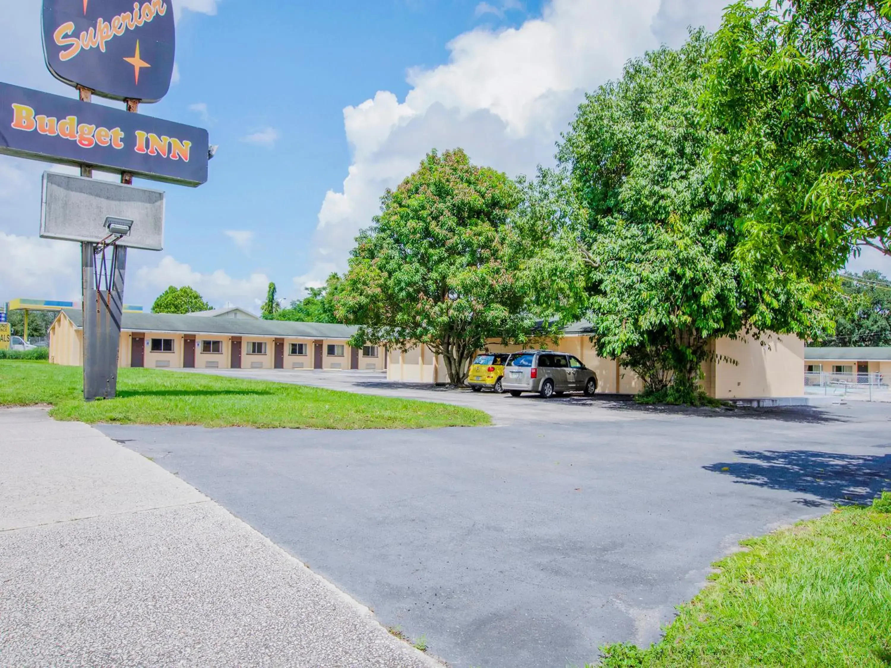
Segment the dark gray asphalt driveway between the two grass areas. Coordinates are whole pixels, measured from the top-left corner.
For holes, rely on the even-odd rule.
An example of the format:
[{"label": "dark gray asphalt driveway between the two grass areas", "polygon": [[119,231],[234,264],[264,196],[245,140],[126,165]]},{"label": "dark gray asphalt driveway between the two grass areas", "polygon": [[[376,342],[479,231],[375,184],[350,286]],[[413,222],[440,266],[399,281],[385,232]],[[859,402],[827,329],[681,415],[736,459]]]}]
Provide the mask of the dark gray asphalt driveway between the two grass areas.
[{"label": "dark gray asphalt driveway between the two grass areas", "polygon": [[501,426],[102,431],[455,668],[564,668],[657,639],[740,538],[891,489],[887,406],[440,397],[486,402]]}]

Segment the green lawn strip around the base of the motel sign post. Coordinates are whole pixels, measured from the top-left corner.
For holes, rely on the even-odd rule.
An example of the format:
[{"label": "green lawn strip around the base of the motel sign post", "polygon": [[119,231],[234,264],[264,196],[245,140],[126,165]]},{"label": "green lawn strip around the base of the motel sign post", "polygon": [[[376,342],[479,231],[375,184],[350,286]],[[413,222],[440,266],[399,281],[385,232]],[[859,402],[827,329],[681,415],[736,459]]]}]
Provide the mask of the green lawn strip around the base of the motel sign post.
[{"label": "green lawn strip around the base of the motel sign post", "polygon": [[481,410],[285,383],[120,369],[118,398],[83,400],[82,370],[0,360],[0,406],[51,404],[59,420],[90,424],[409,429],[491,424]]}]

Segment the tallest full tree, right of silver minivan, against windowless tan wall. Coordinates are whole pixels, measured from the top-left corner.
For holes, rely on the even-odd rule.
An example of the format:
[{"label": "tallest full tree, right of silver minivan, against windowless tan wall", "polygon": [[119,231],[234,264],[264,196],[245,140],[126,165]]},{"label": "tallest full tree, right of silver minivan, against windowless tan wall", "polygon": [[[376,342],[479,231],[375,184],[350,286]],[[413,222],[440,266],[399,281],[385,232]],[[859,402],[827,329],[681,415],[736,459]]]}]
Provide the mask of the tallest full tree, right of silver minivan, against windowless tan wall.
[{"label": "tallest full tree, right of silver minivan, against windowless tan wall", "polygon": [[571,197],[552,274],[570,292],[568,272],[584,276],[570,314],[591,318],[602,356],[679,401],[698,396],[715,338],[825,325],[822,288],[780,266],[754,274],[735,256],[750,202],[716,184],[707,160],[718,133],[698,108],[708,48],[698,31],[629,62],[587,96],[559,153]]}]

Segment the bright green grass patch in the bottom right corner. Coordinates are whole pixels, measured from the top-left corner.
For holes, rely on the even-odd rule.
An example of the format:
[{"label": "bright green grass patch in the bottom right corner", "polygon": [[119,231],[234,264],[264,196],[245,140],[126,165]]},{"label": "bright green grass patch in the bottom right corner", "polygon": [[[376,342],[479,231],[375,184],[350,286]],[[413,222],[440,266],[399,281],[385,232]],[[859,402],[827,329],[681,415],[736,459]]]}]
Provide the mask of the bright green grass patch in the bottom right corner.
[{"label": "bright green grass patch in the bottom right corner", "polygon": [[[891,493],[745,540],[649,649],[606,668],[891,665]],[[884,512],[879,512],[879,509]]]}]

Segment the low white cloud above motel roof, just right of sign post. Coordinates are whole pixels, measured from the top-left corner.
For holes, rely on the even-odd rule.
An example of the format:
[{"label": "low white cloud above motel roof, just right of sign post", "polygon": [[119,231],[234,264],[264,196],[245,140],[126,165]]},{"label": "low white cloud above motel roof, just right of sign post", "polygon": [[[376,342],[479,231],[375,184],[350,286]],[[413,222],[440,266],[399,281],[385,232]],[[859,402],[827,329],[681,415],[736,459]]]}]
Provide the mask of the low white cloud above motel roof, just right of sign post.
[{"label": "low white cloud above motel roof, just right of sign post", "polygon": [[163,292],[170,285],[191,285],[204,299],[212,304],[225,301],[248,304],[266,296],[269,278],[266,274],[253,273],[247,278],[233,278],[217,269],[212,274],[201,274],[184,262],[165,255],[155,267],[142,267],[136,271],[135,283],[144,292]]}]

